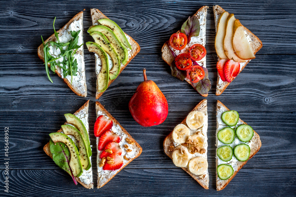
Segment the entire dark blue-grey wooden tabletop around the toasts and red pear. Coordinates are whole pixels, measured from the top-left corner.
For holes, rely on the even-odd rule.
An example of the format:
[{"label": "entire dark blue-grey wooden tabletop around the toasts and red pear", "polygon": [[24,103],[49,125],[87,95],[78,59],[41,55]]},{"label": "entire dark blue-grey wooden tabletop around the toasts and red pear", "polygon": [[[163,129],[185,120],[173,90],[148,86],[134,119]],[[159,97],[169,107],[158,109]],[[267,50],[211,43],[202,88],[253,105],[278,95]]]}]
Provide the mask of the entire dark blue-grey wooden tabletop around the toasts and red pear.
[{"label": "entire dark blue-grey wooden tabletop around the toasts and red pear", "polygon": [[[221,96],[215,96],[217,56],[213,5],[234,13],[262,40],[263,48]],[[207,5],[207,69],[209,92],[209,190],[203,189],[163,152],[163,140],[204,97],[170,74],[161,47],[188,16]],[[94,54],[84,45],[88,97],[75,95],[58,76],[47,79],[37,56],[40,35],[49,37],[84,11],[84,42],[92,41],[90,9],[114,20],[141,46],[99,101],[143,148],[142,154],[103,188],[75,186],[70,176],[42,150],[65,122],[90,101],[90,131],[95,122]],[[0,196],[295,196],[296,195],[296,9],[295,1],[35,1],[0,2]],[[128,102],[147,68],[168,100],[169,113],[158,126],[139,126]],[[216,100],[237,110],[260,135],[260,151],[222,191],[215,187]],[[4,192],[4,128],[9,127],[9,193]],[[91,144],[95,144],[91,132]],[[96,173],[96,151],[92,164]],[[7,157],[5,157],[7,158]]]}]

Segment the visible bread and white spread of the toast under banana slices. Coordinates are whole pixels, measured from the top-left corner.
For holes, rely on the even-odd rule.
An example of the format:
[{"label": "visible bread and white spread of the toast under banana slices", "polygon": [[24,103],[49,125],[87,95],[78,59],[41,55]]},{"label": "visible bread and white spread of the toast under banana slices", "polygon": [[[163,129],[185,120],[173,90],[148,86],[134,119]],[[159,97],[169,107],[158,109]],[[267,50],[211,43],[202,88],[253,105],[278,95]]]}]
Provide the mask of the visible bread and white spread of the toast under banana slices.
[{"label": "visible bread and white spread of the toast under banana slices", "polygon": [[[207,100],[204,99],[204,100],[200,101],[194,107],[194,109],[192,111],[201,111],[201,112],[205,113],[205,115],[207,117]],[[187,116],[180,124],[184,124],[187,126],[186,118],[187,118]],[[205,139],[206,139],[206,144],[205,144],[204,148],[206,149],[205,157],[207,157],[207,119],[206,119],[205,123],[206,124],[204,126],[206,126],[206,132],[205,133],[203,132],[203,134],[205,135]],[[171,159],[172,159],[172,151],[170,151],[170,146],[174,146],[174,142],[172,139],[172,132],[170,132],[170,134],[168,134],[168,136],[166,136],[165,140],[163,141],[164,152]],[[195,175],[195,174],[192,174],[191,172],[189,172],[186,167],[182,167],[182,169],[185,170],[190,176],[192,176],[192,178],[194,178],[194,180],[196,180],[203,188],[209,189],[209,172],[208,172],[208,170],[206,172],[206,176],[203,179],[201,179],[198,175]]]}]

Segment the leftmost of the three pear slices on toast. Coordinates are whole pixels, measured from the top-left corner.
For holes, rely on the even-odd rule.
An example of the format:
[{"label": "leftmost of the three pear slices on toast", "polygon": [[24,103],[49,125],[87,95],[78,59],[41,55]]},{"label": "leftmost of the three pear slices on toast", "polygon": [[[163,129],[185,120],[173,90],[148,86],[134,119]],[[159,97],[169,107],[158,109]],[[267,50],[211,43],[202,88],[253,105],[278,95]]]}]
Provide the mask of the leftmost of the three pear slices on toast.
[{"label": "leftmost of the three pear slices on toast", "polygon": [[220,59],[227,59],[227,56],[224,52],[223,40],[225,35],[225,24],[226,24],[226,19],[228,15],[229,15],[228,12],[223,12],[221,14],[218,27],[217,27],[216,37],[215,37],[215,49]]}]

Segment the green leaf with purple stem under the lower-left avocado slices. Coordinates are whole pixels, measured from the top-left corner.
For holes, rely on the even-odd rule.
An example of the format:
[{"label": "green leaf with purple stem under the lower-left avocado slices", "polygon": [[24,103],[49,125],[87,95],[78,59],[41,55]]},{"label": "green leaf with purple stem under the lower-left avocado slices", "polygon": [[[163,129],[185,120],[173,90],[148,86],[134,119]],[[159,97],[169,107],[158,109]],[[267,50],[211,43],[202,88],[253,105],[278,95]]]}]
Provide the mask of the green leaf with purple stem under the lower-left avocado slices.
[{"label": "green leaf with purple stem under the lower-left avocado slices", "polygon": [[49,140],[49,148],[52,153],[52,159],[60,168],[65,170],[73,179],[75,185],[77,185],[77,180],[73,175],[70,167],[70,151],[66,144],[62,142],[53,142],[52,139]]}]

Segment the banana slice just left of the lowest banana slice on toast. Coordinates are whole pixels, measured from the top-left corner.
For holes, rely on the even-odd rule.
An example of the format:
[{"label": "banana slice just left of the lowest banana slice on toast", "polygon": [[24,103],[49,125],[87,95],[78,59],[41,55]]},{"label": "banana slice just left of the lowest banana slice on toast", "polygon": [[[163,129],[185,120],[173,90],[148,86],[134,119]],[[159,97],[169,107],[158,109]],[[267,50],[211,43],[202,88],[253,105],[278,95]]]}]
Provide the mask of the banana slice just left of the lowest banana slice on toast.
[{"label": "banana slice just left of the lowest banana slice on toast", "polygon": [[172,159],[177,167],[186,167],[189,161],[189,152],[185,146],[177,146],[172,153]]}]

